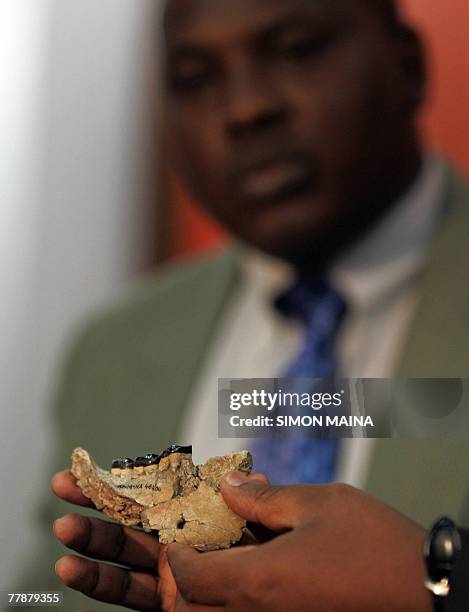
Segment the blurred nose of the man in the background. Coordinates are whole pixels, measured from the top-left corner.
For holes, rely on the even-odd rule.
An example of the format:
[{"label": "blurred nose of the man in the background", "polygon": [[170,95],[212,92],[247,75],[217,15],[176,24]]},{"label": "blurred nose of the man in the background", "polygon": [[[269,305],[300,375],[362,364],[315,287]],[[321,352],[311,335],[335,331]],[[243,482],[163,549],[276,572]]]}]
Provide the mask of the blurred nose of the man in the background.
[{"label": "blurred nose of the man in the background", "polygon": [[286,120],[287,105],[259,71],[244,68],[227,88],[226,128],[230,138],[266,131]]}]

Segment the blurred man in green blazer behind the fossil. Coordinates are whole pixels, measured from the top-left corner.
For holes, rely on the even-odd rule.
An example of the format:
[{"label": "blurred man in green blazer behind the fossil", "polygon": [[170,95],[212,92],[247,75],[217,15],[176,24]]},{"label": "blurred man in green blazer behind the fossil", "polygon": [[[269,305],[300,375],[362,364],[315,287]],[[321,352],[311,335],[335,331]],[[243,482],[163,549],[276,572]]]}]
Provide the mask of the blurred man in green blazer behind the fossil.
[{"label": "blurred man in green blazer behind the fossil", "polygon": [[[76,445],[103,463],[176,439],[196,453],[233,449],[217,437],[217,378],[276,376],[314,341],[298,310],[273,306],[292,282],[321,279],[343,301],[328,338],[342,375],[467,375],[469,195],[422,151],[424,59],[394,3],[171,0],[165,45],[172,163],[245,246],[167,268],[86,331],[57,403],[57,466]],[[327,452],[321,474],[423,525],[468,516],[462,440],[354,441]],[[76,530],[61,539],[86,551]],[[132,605],[114,570],[69,559],[58,571],[74,588]],[[154,583],[140,580],[154,602]]]}]

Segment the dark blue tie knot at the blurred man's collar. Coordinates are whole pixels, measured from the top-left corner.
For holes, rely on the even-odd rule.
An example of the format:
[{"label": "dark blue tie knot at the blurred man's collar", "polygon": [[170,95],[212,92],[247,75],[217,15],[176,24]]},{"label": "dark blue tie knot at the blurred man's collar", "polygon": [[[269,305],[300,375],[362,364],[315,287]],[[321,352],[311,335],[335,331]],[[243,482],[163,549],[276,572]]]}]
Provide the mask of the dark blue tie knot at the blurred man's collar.
[{"label": "dark blue tie knot at the blurred man's collar", "polygon": [[342,297],[322,278],[298,280],[277,298],[276,307],[324,335],[338,329],[346,311]]}]

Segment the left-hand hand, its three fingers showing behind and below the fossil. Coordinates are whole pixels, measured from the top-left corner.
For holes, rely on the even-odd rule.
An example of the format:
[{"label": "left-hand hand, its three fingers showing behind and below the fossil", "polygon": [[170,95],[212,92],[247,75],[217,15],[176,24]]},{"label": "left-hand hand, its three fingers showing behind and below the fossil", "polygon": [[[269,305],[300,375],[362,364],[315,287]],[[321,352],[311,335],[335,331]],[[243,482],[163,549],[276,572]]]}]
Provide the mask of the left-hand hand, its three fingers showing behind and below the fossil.
[{"label": "left-hand hand, its three fingers showing behind and below the fossil", "polygon": [[[52,490],[68,502],[93,507],[68,470],[53,478]],[[53,529],[65,546],[96,560],[74,555],[60,559],[55,571],[67,586],[93,599],[135,610],[174,609],[176,586],[166,547],[154,535],[76,514],[58,519]]]}]

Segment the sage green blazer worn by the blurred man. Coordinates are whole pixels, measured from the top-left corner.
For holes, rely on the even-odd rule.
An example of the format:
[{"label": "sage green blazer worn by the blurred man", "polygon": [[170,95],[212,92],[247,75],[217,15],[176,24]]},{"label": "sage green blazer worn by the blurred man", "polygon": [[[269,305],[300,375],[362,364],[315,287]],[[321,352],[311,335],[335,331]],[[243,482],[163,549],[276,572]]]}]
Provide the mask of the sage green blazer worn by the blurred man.
[{"label": "sage green blazer worn by the blurred man", "polygon": [[[447,215],[396,372],[405,377],[469,377],[469,187],[450,169],[446,183]],[[236,249],[170,265],[86,327],[55,403],[51,474],[69,465],[78,445],[108,465],[115,455],[137,456],[176,440],[217,322],[241,282]],[[443,513],[469,525],[469,441],[380,440],[366,489],[424,525]],[[35,584],[57,589],[53,565],[63,549],[50,523],[70,508],[47,497],[39,562],[45,571],[34,569]],[[69,592],[67,602],[67,610],[101,609]]]}]

